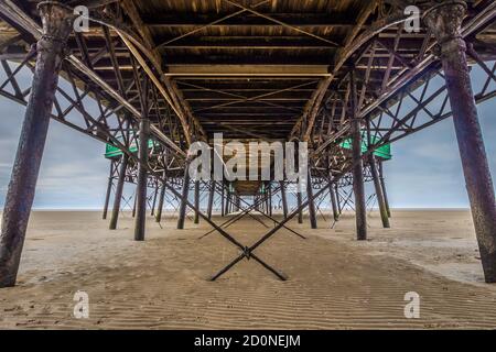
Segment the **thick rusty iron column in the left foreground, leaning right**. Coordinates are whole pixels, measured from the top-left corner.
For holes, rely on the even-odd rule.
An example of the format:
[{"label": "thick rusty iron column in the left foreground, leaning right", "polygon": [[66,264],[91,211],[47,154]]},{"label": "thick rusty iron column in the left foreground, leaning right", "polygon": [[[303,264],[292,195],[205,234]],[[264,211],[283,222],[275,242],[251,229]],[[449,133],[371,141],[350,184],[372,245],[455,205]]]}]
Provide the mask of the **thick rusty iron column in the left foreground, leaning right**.
[{"label": "thick rusty iron column in the left foreground, leaning right", "polygon": [[15,285],[58,73],[74,21],[73,10],[58,2],[41,2],[37,9],[43,22],[43,35],[36,45],[37,57],[31,96],[3,209],[0,287]]}]

